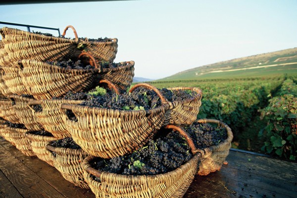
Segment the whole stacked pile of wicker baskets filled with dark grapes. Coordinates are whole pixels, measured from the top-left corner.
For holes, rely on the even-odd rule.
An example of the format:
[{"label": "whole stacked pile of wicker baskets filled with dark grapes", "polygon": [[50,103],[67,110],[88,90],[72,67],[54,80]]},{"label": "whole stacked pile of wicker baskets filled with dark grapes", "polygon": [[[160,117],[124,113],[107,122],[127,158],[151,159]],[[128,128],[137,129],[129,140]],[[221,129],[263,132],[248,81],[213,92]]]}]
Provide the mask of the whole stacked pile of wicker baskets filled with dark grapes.
[{"label": "whole stacked pile of wicker baskets filled with dark grapes", "polygon": [[180,198],[222,167],[233,135],[197,120],[201,90],[131,86],[117,39],[0,33],[0,136],[69,182],[98,198]]}]

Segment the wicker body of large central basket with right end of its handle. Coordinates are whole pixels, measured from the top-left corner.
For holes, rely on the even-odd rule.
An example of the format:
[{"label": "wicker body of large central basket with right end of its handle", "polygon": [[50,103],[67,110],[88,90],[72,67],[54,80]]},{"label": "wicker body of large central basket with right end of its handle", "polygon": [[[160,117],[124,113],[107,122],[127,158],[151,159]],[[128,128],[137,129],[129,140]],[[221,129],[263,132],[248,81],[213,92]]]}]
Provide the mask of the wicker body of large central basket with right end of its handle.
[{"label": "wicker body of large central basket with right end of its handle", "polygon": [[[156,93],[157,89],[150,86]],[[113,110],[80,105],[61,105],[74,113],[77,122],[66,124],[73,140],[90,155],[112,158],[142,147],[165,121],[169,104],[158,94],[162,104],[150,110]]]}]

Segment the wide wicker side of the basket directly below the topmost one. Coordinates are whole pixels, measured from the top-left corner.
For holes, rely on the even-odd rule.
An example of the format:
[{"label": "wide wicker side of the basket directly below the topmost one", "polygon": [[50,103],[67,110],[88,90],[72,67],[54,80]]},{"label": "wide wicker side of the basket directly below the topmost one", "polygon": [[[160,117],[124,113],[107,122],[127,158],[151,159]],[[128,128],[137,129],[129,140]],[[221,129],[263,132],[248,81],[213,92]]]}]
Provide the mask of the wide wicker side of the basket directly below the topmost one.
[{"label": "wide wicker side of the basket directly below the topmost one", "polygon": [[97,69],[64,69],[35,60],[21,61],[22,82],[35,99],[51,99],[79,92],[94,83]]}]

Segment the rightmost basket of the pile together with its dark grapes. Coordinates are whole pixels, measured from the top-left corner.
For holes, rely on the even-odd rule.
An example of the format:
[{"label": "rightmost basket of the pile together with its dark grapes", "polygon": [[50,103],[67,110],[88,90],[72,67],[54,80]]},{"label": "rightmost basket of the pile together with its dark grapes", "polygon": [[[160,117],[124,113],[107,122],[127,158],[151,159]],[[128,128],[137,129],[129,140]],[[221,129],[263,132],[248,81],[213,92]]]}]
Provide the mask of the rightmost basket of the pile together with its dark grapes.
[{"label": "rightmost basket of the pile together with its dark grapes", "polygon": [[176,130],[186,132],[202,154],[198,175],[220,170],[231,148],[233,134],[228,125],[215,119],[200,119]]}]

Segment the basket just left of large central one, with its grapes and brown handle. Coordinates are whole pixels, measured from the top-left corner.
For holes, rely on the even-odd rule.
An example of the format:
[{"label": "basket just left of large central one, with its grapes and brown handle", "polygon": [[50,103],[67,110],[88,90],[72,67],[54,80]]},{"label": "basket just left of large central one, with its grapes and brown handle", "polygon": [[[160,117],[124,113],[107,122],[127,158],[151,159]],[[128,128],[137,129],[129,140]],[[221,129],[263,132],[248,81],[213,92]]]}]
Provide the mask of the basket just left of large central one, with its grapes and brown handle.
[{"label": "basket just left of large central one, with its grapes and brown handle", "polygon": [[105,90],[120,94],[115,85],[107,80],[100,80],[98,85],[101,87],[96,87],[88,92],[69,92],[60,98],[32,100],[28,102],[28,105],[33,107],[41,106],[42,110],[36,112],[35,115],[43,128],[50,132],[54,137],[61,139],[71,137],[69,127],[66,125],[67,114],[61,109],[62,104],[81,104],[86,99],[92,98],[94,94],[98,95],[97,92],[99,91],[97,90],[100,90],[100,88],[104,91],[103,85],[106,87]]}]

